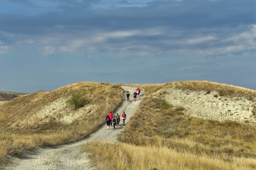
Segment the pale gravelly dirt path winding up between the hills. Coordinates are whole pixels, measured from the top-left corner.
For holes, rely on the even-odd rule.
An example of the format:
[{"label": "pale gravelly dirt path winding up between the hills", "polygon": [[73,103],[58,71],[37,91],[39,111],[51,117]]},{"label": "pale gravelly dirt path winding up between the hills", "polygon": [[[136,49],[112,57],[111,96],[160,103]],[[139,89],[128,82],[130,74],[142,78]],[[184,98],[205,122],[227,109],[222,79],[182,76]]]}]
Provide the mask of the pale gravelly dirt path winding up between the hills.
[{"label": "pale gravelly dirt path winding up between the hills", "polygon": [[[126,113],[125,124],[128,123],[132,115],[137,110],[141,98],[145,95],[145,92],[141,90],[139,100],[134,102],[133,92],[136,88],[122,86],[124,91],[130,92],[130,101],[127,101],[126,95],[122,103],[113,111],[113,115],[118,113],[121,115],[123,111]],[[105,119],[105,118],[102,118]],[[76,143],[70,143],[68,145],[61,145],[51,148],[38,148],[33,151],[27,151],[24,153],[23,158],[11,158],[13,164],[5,167],[6,170],[95,170],[91,167],[90,159],[87,153],[79,153],[79,145],[87,143],[88,141],[105,140],[105,141],[117,141],[117,134],[124,128],[122,120],[120,126],[113,130],[110,127],[107,130],[107,125],[104,124],[87,139],[81,140]]]}]

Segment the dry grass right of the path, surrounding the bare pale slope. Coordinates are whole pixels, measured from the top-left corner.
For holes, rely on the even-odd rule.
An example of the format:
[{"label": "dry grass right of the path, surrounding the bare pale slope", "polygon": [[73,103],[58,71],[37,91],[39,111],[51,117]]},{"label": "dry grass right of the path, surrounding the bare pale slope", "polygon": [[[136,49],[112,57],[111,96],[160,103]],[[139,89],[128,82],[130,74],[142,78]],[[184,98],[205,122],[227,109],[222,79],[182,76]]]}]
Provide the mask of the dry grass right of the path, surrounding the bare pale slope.
[{"label": "dry grass right of the path, surrounding the bare pale slope", "polygon": [[[129,84],[147,93],[126,128],[118,134],[123,143],[88,143],[82,151],[92,153],[99,169],[247,170],[256,168],[256,127],[233,121],[187,118],[161,95],[162,88],[218,91],[223,96],[240,95],[255,102],[256,91],[205,81],[166,84]],[[104,152],[102,152],[104,151]]]}]

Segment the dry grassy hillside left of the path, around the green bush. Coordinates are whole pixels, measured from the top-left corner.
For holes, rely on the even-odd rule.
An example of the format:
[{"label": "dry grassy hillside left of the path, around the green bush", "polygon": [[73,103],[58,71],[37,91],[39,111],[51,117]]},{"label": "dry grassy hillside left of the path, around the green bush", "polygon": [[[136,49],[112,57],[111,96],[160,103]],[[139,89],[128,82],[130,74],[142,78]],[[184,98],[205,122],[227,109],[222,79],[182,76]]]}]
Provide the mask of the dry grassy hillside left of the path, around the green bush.
[{"label": "dry grassy hillside left of the path, around the green bush", "polygon": [[[86,91],[83,97],[89,104],[77,110],[68,105],[70,90]],[[0,105],[0,157],[82,139],[104,123],[106,114],[119,105],[122,97],[121,84],[77,82],[3,103]]]}]

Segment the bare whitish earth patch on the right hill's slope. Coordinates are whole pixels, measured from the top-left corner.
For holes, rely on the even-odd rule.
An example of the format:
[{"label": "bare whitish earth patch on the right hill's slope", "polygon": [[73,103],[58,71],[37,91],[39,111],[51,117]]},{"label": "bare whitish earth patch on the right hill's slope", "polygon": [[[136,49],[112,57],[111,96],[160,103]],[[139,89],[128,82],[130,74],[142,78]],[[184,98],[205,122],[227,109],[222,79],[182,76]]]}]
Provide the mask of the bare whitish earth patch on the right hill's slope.
[{"label": "bare whitish earth patch on the right hill's slope", "polygon": [[252,114],[255,97],[249,100],[239,95],[220,96],[216,91],[206,94],[203,90],[181,90],[173,87],[158,90],[154,95],[162,95],[175,108],[183,107],[183,112],[190,117],[256,123],[256,116]]}]

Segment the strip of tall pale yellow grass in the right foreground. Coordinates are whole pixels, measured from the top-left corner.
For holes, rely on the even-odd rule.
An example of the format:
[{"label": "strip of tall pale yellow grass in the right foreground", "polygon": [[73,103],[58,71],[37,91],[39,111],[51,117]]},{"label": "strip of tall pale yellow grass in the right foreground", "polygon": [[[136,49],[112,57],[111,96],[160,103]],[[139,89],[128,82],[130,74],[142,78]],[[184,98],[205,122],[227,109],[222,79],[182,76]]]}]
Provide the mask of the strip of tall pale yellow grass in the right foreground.
[{"label": "strip of tall pale yellow grass in the right foreground", "polygon": [[118,170],[253,170],[256,160],[252,158],[230,157],[226,160],[205,153],[196,155],[184,149],[176,151],[165,146],[135,146],[125,143],[90,142],[81,147],[90,152],[98,169]]}]

